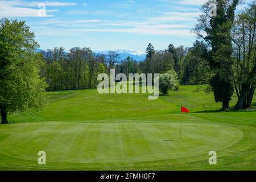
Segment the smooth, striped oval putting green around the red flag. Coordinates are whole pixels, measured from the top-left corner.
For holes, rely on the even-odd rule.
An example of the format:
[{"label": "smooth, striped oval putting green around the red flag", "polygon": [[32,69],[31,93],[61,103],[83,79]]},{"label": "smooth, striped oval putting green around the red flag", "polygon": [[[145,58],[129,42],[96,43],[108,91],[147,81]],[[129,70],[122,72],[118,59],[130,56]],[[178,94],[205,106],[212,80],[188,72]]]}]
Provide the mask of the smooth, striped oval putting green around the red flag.
[{"label": "smooth, striped oval putting green around the red flag", "polygon": [[243,138],[241,130],[211,123],[16,123],[0,127],[0,153],[37,163],[127,163],[186,158],[220,151]]}]

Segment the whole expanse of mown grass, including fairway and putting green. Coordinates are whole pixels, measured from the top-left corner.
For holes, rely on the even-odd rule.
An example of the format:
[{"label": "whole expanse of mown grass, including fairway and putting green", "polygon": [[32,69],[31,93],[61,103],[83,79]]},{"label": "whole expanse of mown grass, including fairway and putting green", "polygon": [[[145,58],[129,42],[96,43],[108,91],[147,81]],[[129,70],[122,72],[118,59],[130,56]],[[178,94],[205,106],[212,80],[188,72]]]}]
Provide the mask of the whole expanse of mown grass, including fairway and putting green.
[{"label": "whole expanse of mown grass, including fairway and putting green", "polygon": [[[9,115],[11,123],[0,125],[0,169],[256,170],[256,112],[218,111],[197,87],[158,100],[96,89],[49,92],[46,109]],[[181,105],[191,113],[183,114],[180,138]],[[38,164],[39,151],[47,165]],[[209,151],[217,152],[215,166]]]}]

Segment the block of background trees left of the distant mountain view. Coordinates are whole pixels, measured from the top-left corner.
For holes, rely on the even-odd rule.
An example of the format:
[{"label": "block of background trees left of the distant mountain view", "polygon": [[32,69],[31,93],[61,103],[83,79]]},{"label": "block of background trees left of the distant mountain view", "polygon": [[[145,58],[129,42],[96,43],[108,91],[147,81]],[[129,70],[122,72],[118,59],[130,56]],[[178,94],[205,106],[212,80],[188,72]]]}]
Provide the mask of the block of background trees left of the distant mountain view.
[{"label": "block of background trees left of the distant mountain view", "polygon": [[97,85],[97,75],[105,72],[105,57],[95,55],[90,48],[48,49],[42,57],[41,76],[47,90],[87,89]]}]

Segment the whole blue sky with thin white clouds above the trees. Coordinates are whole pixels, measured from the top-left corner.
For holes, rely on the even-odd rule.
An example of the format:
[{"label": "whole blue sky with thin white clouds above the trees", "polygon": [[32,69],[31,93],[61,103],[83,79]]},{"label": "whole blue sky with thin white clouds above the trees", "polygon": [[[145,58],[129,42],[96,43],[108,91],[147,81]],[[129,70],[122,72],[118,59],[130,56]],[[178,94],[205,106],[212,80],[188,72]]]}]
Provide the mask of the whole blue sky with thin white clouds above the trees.
[{"label": "whole blue sky with thin white clouds above the trees", "polygon": [[[191,46],[205,0],[0,0],[0,17],[26,20],[42,49],[144,50]],[[46,5],[46,14],[38,11]],[[240,9],[245,5],[240,5]]]}]

